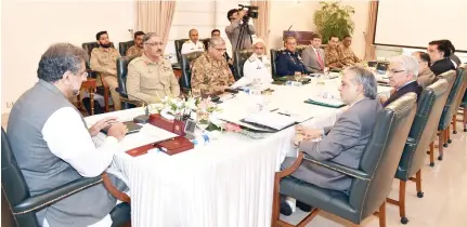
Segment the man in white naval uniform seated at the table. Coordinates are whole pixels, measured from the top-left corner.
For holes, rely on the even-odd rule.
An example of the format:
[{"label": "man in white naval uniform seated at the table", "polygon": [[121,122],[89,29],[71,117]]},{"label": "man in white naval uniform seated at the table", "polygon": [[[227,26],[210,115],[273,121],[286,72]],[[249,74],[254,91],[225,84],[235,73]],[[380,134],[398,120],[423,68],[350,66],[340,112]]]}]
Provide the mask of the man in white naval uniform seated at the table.
[{"label": "man in white naval uniform seated at the table", "polygon": [[260,82],[262,88],[268,88],[274,80],[271,76],[271,61],[265,54],[265,44],[262,39],[255,39],[252,43],[254,53],[243,66],[243,78],[236,81],[232,88],[246,86],[255,81]]}]

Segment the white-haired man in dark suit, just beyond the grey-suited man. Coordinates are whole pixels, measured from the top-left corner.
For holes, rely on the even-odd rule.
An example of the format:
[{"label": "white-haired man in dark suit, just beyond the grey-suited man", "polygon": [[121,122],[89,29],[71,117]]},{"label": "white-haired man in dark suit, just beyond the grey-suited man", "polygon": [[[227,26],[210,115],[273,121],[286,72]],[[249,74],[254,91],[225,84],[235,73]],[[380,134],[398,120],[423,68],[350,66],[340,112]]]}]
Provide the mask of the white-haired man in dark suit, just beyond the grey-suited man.
[{"label": "white-haired man in dark suit, just beyond the grey-suited man", "polygon": [[414,92],[417,97],[421,93],[421,86],[417,82],[418,61],[412,55],[399,55],[392,57],[389,64],[389,85],[394,88],[389,98],[380,97],[384,107],[408,92]]}]

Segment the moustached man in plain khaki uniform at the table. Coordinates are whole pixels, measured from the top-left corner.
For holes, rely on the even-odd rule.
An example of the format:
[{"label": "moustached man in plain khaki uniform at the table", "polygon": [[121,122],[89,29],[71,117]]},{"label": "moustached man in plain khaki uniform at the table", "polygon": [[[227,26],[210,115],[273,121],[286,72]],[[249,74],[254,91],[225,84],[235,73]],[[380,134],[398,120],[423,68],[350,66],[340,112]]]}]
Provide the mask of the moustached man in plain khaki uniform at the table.
[{"label": "moustached man in plain khaki uniform at the table", "polygon": [[[154,32],[144,35],[144,52],[128,64],[127,92],[146,103],[160,103],[180,95],[180,85],[170,61],[164,58],[163,41]],[[133,97],[130,99],[138,101]]]}]

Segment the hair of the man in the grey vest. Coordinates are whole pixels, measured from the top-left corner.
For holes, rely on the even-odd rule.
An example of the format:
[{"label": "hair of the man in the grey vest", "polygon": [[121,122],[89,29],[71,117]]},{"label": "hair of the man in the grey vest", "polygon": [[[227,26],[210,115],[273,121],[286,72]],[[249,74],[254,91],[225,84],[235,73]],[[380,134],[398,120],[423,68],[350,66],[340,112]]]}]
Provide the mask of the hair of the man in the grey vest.
[{"label": "hair of the man in the grey vest", "polygon": [[78,74],[81,63],[88,62],[88,53],[70,43],[55,43],[42,54],[37,69],[37,77],[47,82],[55,82],[66,71]]}]

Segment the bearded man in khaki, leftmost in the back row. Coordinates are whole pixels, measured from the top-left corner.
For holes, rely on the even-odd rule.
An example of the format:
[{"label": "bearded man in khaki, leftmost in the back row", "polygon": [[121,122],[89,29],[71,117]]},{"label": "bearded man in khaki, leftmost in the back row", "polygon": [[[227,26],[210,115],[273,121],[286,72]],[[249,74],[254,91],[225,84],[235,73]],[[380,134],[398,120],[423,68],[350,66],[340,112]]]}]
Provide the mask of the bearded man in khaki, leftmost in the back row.
[{"label": "bearded man in khaki, leftmost in the back row", "polygon": [[116,49],[111,48],[107,31],[98,32],[95,38],[100,46],[92,49],[91,69],[99,72],[102,81],[109,88],[115,110],[120,110],[120,94],[115,91],[118,88],[116,62],[120,54]]}]

